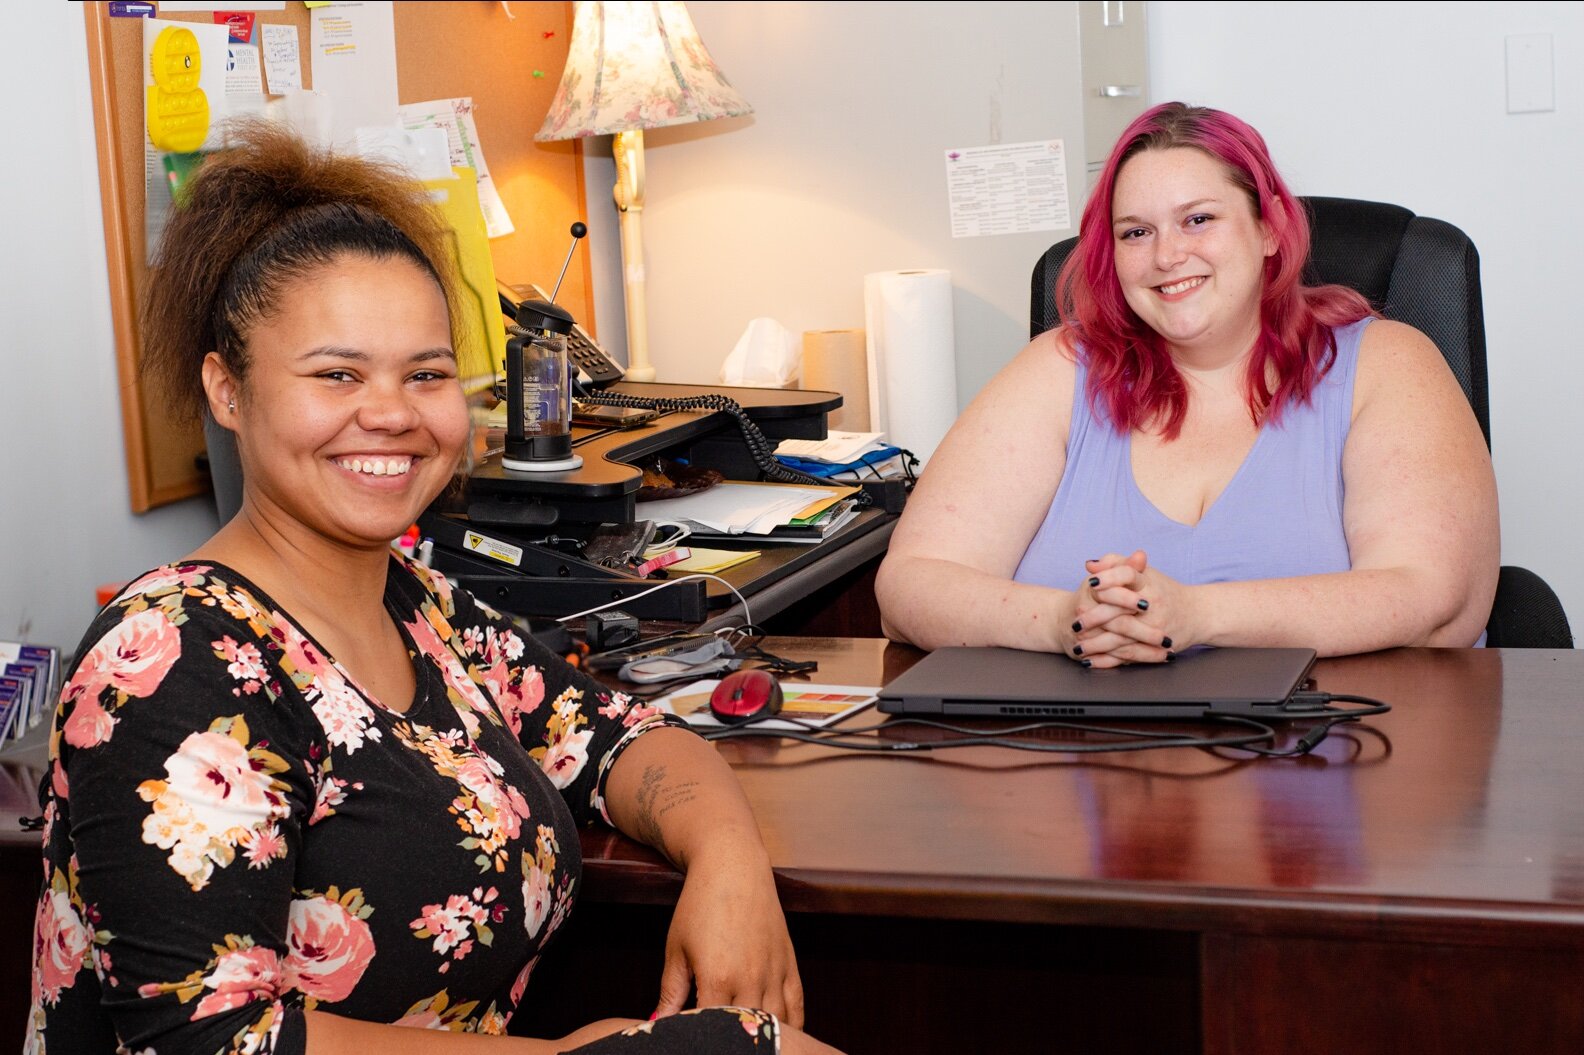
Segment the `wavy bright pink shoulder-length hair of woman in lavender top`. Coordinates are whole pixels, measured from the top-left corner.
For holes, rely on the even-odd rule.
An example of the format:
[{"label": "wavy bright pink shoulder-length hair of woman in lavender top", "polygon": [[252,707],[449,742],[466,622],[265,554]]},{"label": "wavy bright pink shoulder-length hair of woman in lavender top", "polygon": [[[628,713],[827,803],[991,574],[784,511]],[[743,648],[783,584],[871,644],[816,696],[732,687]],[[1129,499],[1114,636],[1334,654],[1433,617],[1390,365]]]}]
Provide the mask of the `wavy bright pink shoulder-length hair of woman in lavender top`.
[{"label": "wavy bright pink shoulder-length hair of woman in lavender top", "polygon": [[1104,407],[1123,432],[1158,425],[1167,440],[1177,439],[1188,413],[1188,390],[1166,342],[1123,298],[1110,225],[1121,166],[1144,150],[1171,147],[1193,147],[1221,162],[1275,238],[1277,250],[1266,258],[1259,337],[1248,356],[1245,385],[1250,417],[1256,423],[1277,421],[1288,404],[1307,402],[1331,369],[1337,356],[1332,329],[1375,312],[1348,287],[1302,284],[1308,217],[1259,133],[1223,111],[1183,103],[1153,106],[1121,133],[1083,208],[1079,244],[1057,277],[1061,320],[1083,348],[1090,407]]}]

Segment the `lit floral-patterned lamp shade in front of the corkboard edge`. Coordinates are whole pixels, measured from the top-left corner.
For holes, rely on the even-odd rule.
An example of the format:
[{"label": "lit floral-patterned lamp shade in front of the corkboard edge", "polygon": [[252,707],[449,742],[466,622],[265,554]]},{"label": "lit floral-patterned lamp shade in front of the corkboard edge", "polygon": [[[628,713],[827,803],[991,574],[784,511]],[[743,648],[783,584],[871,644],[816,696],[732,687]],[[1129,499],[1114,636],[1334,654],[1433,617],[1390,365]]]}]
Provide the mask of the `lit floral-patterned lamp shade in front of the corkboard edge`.
[{"label": "lit floral-patterned lamp shade in front of the corkboard edge", "polygon": [[580,0],[567,68],[534,138],[577,139],[751,112],[681,0]]}]

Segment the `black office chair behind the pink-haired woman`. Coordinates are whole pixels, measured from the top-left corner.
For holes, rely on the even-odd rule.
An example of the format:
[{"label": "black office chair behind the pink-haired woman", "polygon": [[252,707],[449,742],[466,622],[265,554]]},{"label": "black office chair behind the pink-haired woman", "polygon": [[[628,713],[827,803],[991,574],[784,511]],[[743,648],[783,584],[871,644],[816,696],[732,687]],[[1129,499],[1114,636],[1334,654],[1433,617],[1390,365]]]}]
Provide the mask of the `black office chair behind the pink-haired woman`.
[{"label": "black office chair behind the pink-haired woman", "polygon": [[[1307,282],[1348,285],[1386,318],[1424,333],[1446,356],[1491,445],[1486,379],[1484,307],[1479,299],[1479,252],[1451,223],[1415,215],[1380,201],[1299,198],[1308,209],[1313,239]],[[1028,329],[1038,336],[1061,315],[1057,274],[1076,238],[1057,242],[1034,265]],[[1492,648],[1573,648],[1573,630],[1557,594],[1521,567],[1503,567],[1486,624]]]}]

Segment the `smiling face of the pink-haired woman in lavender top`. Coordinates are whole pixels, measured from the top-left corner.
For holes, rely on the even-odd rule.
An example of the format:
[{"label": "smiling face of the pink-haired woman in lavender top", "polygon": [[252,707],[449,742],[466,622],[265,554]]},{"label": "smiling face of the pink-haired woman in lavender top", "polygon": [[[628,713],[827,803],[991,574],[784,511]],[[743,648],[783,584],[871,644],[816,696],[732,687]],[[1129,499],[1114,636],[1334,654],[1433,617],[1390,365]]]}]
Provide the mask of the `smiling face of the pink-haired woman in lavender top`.
[{"label": "smiling face of the pink-haired woman in lavender top", "polygon": [[1253,347],[1277,244],[1218,160],[1191,147],[1128,158],[1110,215],[1121,293],[1174,356],[1228,360]]}]

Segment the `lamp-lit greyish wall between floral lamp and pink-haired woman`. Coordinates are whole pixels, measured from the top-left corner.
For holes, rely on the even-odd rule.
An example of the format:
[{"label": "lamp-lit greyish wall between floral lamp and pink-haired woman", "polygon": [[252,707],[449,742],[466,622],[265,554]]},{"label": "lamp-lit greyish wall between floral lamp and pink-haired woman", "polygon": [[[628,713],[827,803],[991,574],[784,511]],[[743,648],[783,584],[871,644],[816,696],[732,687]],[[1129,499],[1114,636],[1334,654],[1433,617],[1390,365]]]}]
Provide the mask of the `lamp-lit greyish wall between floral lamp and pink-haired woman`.
[{"label": "lamp-lit greyish wall between floral lamp and pink-haired woman", "polygon": [[[659,380],[716,380],[759,315],[792,331],[862,328],[870,271],[947,268],[966,401],[1028,341],[1030,271],[1071,231],[952,239],[942,155],[1063,138],[1069,184],[1082,185],[1077,5],[687,10],[756,112],[646,133]],[[611,179],[608,162],[591,165],[591,249],[607,269],[618,252]],[[596,285],[599,333],[619,350],[619,287],[607,288]]]}]

